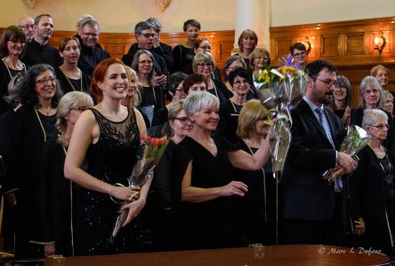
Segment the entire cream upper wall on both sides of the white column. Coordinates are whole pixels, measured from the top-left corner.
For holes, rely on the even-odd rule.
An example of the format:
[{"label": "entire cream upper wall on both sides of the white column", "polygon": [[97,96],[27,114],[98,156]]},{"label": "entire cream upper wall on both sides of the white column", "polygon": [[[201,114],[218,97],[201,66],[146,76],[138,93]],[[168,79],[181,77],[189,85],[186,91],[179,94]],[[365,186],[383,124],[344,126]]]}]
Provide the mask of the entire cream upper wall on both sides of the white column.
[{"label": "entire cream upper wall on both sides of the white column", "polygon": [[[264,0],[260,0],[264,1]],[[360,20],[395,16],[395,0],[267,0],[271,1],[271,25]],[[90,13],[101,24],[101,32],[129,33],[149,17],[162,20],[164,32],[182,32],[182,23],[194,18],[203,31],[235,29],[236,0],[173,0],[164,13],[155,0],[36,0],[29,9],[26,0],[1,0],[0,27],[30,15],[51,13],[55,29],[74,30],[81,14]]]}]

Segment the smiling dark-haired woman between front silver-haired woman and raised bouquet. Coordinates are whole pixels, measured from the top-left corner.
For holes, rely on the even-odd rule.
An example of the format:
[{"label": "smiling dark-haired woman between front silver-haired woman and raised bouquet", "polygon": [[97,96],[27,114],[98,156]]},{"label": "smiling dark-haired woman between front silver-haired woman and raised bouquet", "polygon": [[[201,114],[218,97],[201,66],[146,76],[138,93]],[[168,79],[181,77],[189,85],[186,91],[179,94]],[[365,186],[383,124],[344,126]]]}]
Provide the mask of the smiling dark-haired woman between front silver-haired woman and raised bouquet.
[{"label": "smiling dark-haired woman between front silver-haired woman and raised bouquet", "polygon": [[238,114],[246,104],[246,95],[251,86],[251,73],[245,68],[238,67],[229,74],[229,82],[233,89],[233,96],[220,106],[220,122],[217,134],[226,137],[230,142],[237,141]]}]

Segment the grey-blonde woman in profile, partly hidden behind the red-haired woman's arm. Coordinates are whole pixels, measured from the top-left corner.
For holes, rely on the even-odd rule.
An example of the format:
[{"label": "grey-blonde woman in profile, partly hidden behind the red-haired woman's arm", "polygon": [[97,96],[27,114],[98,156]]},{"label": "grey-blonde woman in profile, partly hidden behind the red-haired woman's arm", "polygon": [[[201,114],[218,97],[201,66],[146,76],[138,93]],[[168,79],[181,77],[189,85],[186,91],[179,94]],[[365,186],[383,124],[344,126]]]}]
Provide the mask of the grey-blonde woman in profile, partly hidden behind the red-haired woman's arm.
[{"label": "grey-blonde woman in profile, partly hidden behind the red-haired woman's arm", "polygon": [[74,256],[72,212],[75,199],[75,184],[64,177],[64,160],[69,147],[71,134],[78,117],[93,107],[93,99],[86,93],[71,91],[59,102],[56,126],[60,134],[44,144],[44,177],[39,182],[41,226],[37,228],[43,235],[44,255],[54,254]]}]

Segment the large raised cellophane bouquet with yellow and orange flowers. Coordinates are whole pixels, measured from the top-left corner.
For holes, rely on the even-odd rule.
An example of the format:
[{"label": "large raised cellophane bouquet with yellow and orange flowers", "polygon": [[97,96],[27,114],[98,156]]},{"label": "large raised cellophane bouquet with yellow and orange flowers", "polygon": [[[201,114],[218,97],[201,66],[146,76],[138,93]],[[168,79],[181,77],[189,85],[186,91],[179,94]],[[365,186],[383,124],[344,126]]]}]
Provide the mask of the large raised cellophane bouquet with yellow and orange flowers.
[{"label": "large raised cellophane bouquet with yellow and orange flowers", "polygon": [[307,85],[308,74],[292,66],[292,61],[284,59],[285,65],[278,69],[263,69],[256,79],[263,82],[257,92],[262,105],[270,111],[275,121],[270,134],[273,177],[279,183],[291,142],[292,118],[289,108],[302,98]]}]

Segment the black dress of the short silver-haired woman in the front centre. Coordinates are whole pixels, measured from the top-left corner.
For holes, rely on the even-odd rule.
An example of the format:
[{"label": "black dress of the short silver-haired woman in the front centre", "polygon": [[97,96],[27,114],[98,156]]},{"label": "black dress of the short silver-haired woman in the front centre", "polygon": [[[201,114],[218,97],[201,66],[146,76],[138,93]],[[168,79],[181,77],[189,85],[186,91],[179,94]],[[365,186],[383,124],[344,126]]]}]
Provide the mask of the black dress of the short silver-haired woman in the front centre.
[{"label": "black dress of the short silver-haired woman in the front centre", "polygon": [[[181,180],[192,160],[191,185],[199,188],[221,187],[232,180],[232,166],[224,145],[215,141],[214,156],[191,137],[185,137],[173,153],[173,207],[181,201]],[[232,197],[205,202],[182,201],[180,209],[180,249],[233,246]]]}]

